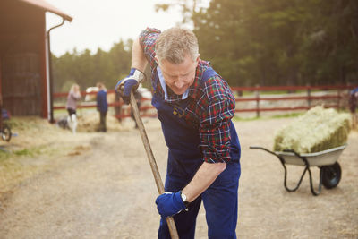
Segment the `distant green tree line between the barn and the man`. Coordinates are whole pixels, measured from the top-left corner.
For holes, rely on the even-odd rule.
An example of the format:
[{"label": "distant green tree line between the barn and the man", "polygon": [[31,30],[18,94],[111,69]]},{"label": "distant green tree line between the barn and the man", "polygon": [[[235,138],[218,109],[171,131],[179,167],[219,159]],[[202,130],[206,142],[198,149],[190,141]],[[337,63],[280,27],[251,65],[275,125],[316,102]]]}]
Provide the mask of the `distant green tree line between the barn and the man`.
[{"label": "distant green tree line between the barn and the man", "polygon": [[72,83],[80,85],[81,90],[95,86],[102,81],[108,89],[114,89],[115,83],[123,78],[131,67],[132,40],[120,40],[108,51],[98,48],[96,54],[89,49],[56,57],[52,55],[55,79],[55,92],[68,91]]}]

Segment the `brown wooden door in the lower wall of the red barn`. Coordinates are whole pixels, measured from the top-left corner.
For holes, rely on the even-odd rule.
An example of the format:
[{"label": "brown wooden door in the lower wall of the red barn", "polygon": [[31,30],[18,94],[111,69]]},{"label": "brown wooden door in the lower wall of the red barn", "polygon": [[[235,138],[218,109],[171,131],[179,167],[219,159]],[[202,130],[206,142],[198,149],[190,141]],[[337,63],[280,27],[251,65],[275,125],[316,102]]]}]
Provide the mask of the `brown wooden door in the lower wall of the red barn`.
[{"label": "brown wooden door in the lower wall of the red barn", "polygon": [[41,115],[38,54],[4,55],[1,69],[4,108],[12,115]]}]

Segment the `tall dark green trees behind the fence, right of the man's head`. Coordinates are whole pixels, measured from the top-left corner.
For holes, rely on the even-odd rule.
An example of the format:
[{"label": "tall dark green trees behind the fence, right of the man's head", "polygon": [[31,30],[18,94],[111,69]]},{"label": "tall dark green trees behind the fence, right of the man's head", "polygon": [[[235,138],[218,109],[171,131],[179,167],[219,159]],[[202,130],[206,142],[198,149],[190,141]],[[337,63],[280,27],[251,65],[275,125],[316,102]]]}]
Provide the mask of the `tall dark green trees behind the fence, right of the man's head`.
[{"label": "tall dark green trees behind the fence, right of the man's head", "polygon": [[358,78],[358,2],[211,0],[187,2],[200,53],[232,85],[335,84]]}]

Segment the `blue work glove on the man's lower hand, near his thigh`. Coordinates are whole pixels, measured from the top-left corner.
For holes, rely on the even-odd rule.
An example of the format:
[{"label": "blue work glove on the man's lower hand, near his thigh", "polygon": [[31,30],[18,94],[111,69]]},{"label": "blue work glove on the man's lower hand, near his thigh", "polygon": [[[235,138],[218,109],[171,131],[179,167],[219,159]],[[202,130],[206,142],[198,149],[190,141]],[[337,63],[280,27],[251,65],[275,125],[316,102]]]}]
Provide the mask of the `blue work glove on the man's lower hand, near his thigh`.
[{"label": "blue work glove on the man's lower hand, near his thigh", "polygon": [[158,196],[156,200],[157,209],[162,218],[173,216],[186,209],[180,193],[164,192]]}]

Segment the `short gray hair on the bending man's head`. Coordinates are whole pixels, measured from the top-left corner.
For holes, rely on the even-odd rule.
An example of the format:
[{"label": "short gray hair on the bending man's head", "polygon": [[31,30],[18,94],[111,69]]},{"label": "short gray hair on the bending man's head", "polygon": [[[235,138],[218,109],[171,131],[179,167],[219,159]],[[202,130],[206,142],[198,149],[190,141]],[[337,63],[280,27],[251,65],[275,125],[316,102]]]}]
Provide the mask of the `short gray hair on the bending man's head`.
[{"label": "short gray hair on the bending man's head", "polygon": [[156,41],[158,61],[167,60],[173,64],[181,64],[186,55],[193,61],[199,55],[198,39],[192,30],[174,27],[164,30]]}]

